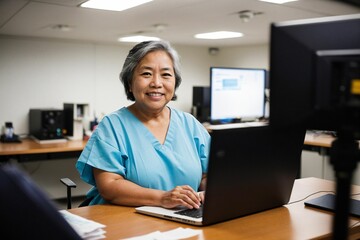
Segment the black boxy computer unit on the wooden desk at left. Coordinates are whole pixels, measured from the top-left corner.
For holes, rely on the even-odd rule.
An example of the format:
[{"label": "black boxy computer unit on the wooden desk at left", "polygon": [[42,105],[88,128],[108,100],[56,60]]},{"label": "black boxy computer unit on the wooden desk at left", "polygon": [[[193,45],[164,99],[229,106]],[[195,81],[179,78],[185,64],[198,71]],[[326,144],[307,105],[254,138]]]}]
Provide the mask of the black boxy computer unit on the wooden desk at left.
[{"label": "black boxy computer unit on the wooden desk at left", "polygon": [[29,133],[39,140],[62,139],[64,111],[59,109],[30,109]]}]

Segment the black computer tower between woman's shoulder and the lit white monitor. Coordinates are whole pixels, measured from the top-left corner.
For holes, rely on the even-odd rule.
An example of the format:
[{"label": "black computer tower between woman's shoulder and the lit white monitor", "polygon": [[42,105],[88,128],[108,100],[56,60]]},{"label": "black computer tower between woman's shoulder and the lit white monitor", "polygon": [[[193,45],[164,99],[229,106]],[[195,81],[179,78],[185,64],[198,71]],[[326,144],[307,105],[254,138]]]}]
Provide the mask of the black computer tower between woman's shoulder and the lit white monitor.
[{"label": "black computer tower between woman's shoulder and the lit white monitor", "polygon": [[207,122],[210,118],[210,87],[193,87],[191,113],[200,121]]}]

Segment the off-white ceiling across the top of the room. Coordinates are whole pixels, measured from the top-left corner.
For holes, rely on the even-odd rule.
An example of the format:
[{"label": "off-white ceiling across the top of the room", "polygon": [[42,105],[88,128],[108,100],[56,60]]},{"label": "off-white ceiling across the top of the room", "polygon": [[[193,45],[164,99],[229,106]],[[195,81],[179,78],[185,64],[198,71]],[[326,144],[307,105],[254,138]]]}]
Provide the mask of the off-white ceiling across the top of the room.
[{"label": "off-white ceiling across the top of the room", "polygon": [[[117,43],[134,33],[173,44],[223,47],[265,44],[272,22],[360,13],[355,4],[299,0],[283,5],[258,0],[154,0],[122,12],[80,8],[84,0],[0,0],[0,35]],[[254,17],[243,22],[240,11]],[[58,25],[68,26],[70,29]],[[200,40],[196,33],[239,31],[242,38]],[[120,44],[120,43],[118,43]]]}]

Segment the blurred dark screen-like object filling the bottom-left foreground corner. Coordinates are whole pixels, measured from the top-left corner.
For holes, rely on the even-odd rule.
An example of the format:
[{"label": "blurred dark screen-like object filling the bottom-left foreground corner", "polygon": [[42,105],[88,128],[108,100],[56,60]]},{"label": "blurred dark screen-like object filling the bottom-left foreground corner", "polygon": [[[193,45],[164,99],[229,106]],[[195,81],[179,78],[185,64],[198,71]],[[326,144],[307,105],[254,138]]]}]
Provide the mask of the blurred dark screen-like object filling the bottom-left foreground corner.
[{"label": "blurred dark screen-like object filling the bottom-left foreground corner", "polygon": [[1,234],[11,239],[82,239],[50,199],[14,165],[0,166]]}]

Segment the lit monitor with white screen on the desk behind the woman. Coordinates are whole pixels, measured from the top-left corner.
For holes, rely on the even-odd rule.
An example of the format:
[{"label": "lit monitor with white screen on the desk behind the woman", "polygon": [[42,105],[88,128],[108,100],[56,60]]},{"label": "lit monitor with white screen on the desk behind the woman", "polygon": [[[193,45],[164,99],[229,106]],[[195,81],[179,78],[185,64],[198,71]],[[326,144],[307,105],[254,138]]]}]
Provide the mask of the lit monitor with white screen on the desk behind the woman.
[{"label": "lit monitor with white screen on the desk behind the woman", "polygon": [[210,68],[210,122],[233,123],[264,117],[266,70]]}]

